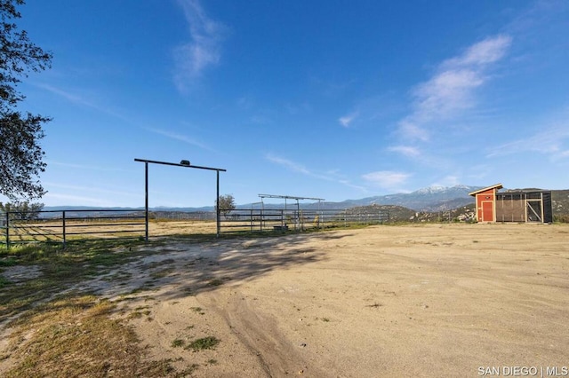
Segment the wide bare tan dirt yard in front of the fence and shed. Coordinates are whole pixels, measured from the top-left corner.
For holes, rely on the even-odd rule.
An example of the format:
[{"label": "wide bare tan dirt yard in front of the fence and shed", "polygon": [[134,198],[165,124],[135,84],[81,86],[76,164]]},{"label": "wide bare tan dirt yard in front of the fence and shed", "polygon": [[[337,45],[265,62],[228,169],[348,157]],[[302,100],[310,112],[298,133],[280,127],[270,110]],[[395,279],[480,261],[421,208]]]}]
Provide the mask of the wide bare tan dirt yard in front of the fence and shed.
[{"label": "wide bare tan dirt yard in front of the fence and shed", "polygon": [[565,224],[172,241],[74,288],[118,303],[172,376],[568,374]]}]

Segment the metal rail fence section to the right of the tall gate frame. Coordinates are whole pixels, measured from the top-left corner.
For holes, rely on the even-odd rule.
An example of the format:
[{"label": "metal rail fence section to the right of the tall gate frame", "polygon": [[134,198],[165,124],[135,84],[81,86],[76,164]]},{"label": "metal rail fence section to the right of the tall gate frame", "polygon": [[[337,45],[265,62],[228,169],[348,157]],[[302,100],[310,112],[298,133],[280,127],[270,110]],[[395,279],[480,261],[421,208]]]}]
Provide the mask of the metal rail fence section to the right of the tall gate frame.
[{"label": "metal rail fence section to the right of the tall gate frame", "polygon": [[387,224],[389,211],[236,209],[221,215],[221,232],[304,231],[351,224]]}]

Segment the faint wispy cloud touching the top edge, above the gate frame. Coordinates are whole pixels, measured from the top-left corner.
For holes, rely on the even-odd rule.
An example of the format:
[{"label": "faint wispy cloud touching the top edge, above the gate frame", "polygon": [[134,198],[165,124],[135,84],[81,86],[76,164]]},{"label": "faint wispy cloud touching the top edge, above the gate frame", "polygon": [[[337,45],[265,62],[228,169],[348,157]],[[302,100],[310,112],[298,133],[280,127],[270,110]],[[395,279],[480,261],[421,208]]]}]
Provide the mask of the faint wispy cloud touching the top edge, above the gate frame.
[{"label": "faint wispy cloud touching the top edge, above the gate frame", "polygon": [[190,37],[188,43],[174,51],[174,81],[178,89],[183,91],[206,67],[219,63],[220,43],[227,28],[219,21],[210,19],[197,0],[179,0],[178,3],[188,21]]}]

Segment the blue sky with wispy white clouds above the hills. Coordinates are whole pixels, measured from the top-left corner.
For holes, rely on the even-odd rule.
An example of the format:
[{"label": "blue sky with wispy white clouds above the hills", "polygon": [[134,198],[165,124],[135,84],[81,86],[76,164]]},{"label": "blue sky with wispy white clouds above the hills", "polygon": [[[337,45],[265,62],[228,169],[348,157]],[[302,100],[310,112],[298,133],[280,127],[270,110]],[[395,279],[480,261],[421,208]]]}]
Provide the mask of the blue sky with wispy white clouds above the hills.
[{"label": "blue sky with wispy white clouds above the hills", "polygon": [[[28,0],[52,51],[45,205],[144,205],[134,158],[220,193],[343,201],[429,185],[569,188],[569,2]],[[149,166],[150,206],[215,172]],[[1,198],[0,198],[1,200]]]}]

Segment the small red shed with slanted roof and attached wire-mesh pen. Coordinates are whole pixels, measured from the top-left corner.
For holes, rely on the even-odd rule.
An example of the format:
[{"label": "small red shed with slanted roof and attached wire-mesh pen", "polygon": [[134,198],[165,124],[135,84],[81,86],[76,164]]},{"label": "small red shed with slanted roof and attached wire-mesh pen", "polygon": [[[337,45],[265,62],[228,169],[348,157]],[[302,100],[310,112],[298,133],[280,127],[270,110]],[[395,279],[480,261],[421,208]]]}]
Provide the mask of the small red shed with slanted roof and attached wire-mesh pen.
[{"label": "small red shed with slanted roof and attached wire-mesh pen", "polygon": [[469,193],[476,197],[478,222],[552,223],[551,191],[509,190],[501,184]]}]

